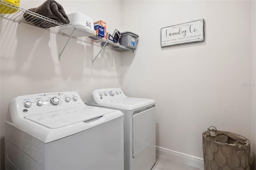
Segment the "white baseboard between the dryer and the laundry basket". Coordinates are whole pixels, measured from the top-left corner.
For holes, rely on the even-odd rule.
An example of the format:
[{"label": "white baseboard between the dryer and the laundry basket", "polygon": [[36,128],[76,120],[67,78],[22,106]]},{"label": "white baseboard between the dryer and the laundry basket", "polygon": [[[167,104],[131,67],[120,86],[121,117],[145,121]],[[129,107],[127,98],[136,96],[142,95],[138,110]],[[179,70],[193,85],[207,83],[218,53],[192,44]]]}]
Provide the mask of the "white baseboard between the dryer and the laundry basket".
[{"label": "white baseboard between the dryer and the laundry basket", "polygon": [[177,152],[175,150],[170,150],[160,146],[156,146],[156,154],[159,156],[164,156],[166,158],[188,164],[190,166],[198,167],[204,169],[204,159],[189,154],[184,154],[182,152]]}]

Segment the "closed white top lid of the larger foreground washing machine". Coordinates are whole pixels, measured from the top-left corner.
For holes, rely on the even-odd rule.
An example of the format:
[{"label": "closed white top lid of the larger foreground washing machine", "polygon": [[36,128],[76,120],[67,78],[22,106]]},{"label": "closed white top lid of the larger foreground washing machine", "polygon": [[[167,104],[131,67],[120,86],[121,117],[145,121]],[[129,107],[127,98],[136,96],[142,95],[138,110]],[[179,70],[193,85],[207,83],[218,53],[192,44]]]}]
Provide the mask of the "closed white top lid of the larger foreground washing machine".
[{"label": "closed white top lid of the larger foreground washing machine", "polygon": [[[61,128],[74,123],[95,119],[111,112],[113,112],[113,110],[82,106],[26,116],[24,118],[47,128]],[[40,128],[40,126],[37,128]]]}]

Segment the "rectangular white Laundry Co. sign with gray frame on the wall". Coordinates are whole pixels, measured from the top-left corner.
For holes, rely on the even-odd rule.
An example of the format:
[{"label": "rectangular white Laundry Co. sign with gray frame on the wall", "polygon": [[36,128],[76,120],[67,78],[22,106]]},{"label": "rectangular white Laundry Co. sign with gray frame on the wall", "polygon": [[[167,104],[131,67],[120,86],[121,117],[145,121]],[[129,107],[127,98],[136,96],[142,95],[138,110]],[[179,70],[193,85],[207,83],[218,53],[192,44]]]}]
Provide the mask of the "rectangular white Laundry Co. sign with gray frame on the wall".
[{"label": "rectangular white Laundry Co. sign with gray frame on the wall", "polygon": [[161,47],[204,41],[204,19],[161,28]]}]

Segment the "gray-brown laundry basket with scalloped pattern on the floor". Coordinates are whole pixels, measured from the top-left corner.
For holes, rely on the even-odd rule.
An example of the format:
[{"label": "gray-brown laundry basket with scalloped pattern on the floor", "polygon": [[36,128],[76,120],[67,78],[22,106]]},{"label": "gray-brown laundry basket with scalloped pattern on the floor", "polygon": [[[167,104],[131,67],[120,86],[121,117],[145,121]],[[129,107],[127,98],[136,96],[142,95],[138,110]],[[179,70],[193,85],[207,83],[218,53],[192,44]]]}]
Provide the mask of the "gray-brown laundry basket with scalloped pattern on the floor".
[{"label": "gray-brown laundry basket with scalloped pattern on the floor", "polygon": [[202,134],[204,170],[250,170],[250,141],[210,128]]}]

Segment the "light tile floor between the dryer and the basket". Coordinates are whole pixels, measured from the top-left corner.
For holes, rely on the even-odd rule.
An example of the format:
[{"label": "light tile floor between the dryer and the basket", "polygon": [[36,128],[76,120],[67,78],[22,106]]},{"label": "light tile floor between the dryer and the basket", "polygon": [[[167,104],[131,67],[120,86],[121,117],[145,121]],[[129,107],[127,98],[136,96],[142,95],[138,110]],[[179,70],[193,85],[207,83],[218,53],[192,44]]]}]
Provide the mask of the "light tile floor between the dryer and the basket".
[{"label": "light tile floor between the dryer and the basket", "polygon": [[156,164],[151,170],[202,170],[194,166],[183,164],[176,160],[156,155]]}]

